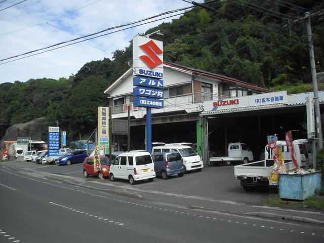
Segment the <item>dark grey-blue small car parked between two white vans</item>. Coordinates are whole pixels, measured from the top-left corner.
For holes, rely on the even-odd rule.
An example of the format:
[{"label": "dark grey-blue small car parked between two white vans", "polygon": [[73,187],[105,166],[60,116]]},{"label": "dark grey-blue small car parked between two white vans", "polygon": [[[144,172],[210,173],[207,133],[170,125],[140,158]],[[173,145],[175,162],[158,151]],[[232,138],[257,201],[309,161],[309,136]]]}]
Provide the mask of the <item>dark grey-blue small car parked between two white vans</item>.
[{"label": "dark grey-blue small car parked between two white vans", "polygon": [[156,176],[165,180],[171,175],[183,177],[185,169],[179,152],[154,153],[152,158]]}]

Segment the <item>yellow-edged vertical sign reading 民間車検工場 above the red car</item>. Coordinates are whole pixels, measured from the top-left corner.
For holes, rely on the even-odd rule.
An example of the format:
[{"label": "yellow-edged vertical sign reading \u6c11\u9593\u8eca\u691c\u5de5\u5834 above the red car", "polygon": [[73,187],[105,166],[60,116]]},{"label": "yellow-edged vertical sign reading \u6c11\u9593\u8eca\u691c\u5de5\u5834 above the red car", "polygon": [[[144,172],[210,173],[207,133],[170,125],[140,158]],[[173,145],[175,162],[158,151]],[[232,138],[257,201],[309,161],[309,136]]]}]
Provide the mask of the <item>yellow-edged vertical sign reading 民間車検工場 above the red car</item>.
[{"label": "yellow-edged vertical sign reading \u6c11\u9593\u8eca\u691c\u5de5\u5834 above the red car", "polygon": [[98,146],[109,147],[109,107],[98,107]]}]

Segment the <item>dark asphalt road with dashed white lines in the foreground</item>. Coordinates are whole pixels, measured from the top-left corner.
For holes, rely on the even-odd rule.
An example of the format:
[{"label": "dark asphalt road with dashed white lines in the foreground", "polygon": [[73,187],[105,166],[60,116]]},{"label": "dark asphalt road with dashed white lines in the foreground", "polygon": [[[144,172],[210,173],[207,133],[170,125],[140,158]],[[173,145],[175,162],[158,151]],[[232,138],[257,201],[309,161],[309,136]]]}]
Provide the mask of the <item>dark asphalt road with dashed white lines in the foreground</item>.
[{"label": "dark asphalt road with dashed white lines in the foreground", "polygon": [[[153,183],[139,186],[147,184]],[[157,200],[110,195],[8,168],[0,168],[0,195],[0,242],[324,240],[323,229],[316,225],[164,206]]]}]

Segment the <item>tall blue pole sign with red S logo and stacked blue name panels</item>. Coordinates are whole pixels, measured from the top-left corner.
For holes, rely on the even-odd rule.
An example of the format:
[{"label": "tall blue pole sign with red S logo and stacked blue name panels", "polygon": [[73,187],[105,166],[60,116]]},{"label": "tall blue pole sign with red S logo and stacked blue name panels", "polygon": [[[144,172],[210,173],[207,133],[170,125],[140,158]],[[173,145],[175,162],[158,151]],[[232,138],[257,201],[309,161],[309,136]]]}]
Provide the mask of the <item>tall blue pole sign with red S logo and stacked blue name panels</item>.
[{"label": "tall blue pole sign with red S logo and stacked blue name panels", "polygon": [[146,107],[146,150],[152,152],[152,110],[163,108],[163,42],[133,38],[134,106]]}]

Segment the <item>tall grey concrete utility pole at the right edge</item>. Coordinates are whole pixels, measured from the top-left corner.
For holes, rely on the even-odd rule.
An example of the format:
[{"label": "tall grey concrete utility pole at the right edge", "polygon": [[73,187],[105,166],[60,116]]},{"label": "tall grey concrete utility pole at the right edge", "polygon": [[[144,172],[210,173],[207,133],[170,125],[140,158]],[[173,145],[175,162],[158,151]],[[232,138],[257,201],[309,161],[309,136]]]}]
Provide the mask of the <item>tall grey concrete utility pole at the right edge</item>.
[{"label": "tall grey concrete utility pole at the right edge", "polygon": [[317,79],[316,79],[316,66],[315,66],[312,30],[311,30],[311,26],[310,26],[310,16],[311,16],[311,14],[309,12],[305,13],[308,50],[309,50],[309,59],[310,59],[310,70],[311,70],[311,75],[312,75],[313,93],[314,93],[316,137],[318,139],[317,148],[321,149],[323,147],[323,137],[322,137],[322,128],[321,128],[321,121],[320,121],[318,88],[317,88]]}]

